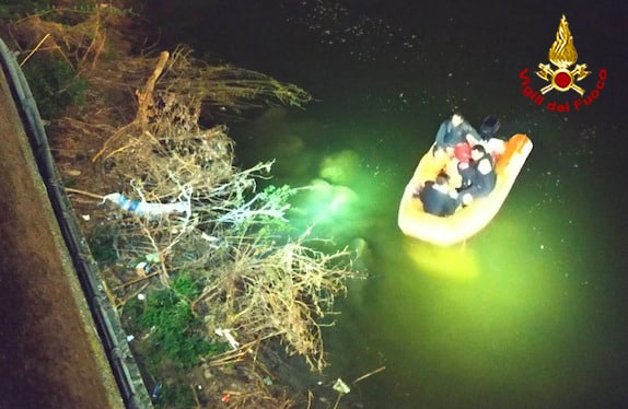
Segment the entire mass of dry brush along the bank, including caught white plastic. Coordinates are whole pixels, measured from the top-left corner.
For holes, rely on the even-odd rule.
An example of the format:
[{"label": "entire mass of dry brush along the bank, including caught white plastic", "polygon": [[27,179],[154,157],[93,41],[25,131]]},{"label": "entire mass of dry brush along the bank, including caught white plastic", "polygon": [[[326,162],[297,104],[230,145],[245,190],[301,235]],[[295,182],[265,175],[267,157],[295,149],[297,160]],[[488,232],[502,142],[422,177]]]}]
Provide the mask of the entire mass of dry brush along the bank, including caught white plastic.
[{"label": "entire mass of dry brush along the bank, including caught white plastic", "polygon": [[[123,308],[189,276],[198,293],[186,302],[206,336],[228,329],[237,338],[233,350],[202,357],[206,364],[256,362],[247,366],[255,387],[233,392],[230,407],[291,407],[259,381],[259,346],[279,340],[321,371],[321,326],[333,324],[335,296],[356,272],[348,250],[323,252],[327,243],[290,230],[294,188],[258,188],[272,162],[233,165],[234,142],[221,118],[276,104],[303,107],[312,97],[258,72],[197,60],[185,47],[133,55],[115,30],[129,25],[127,17],[97,4],[89,12],[60,8],[8,30],[24,65],[55,55],[88,85],[84,104],[55,119],[51,145],[61,166],[82,163],[74,204],[85,209],[85,198],[109,204],[85,223],[106,227],[113,261],[104,285]],[[213,125],[202,128],[202,116]]]}]

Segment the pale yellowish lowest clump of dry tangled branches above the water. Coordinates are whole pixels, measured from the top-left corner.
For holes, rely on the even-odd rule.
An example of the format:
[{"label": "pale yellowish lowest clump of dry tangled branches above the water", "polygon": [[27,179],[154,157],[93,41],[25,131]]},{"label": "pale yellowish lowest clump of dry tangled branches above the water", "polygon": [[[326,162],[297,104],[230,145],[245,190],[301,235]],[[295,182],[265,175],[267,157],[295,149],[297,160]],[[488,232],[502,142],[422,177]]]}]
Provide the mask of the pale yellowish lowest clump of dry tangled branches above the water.
[{"label": "pale yellowish lowest clump of dry tangled branches above the water", "polygon": [[342,282],[351,272],[341,262],[347,256],[345,250],[316,252],[300,242],[276,247],[242,243],[193,305],[218,306],[221,322],[237,328],[245,342],[279,336],[289,353],[322,370],[319,322],[329,314],[334,294],[346,291]]}]

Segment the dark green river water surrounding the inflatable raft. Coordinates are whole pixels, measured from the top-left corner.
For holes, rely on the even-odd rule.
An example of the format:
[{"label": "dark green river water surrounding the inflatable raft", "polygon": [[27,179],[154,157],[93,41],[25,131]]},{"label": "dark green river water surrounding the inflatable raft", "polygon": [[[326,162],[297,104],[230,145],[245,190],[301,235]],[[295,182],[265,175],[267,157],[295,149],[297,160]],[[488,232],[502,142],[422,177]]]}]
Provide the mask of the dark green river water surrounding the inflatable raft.
[{"label": "dark green river water surrounding the inflatable raft", "polygon": [[[323,381],[365,408],[623,407],[628,375],[626,7],[610,1],[190,1],[152,12],[165,44],[310,91],[304,110],[234,124],[243,165],[276,159],[275,183],[317,184],[294,223],[367,245],[325,331]],[[269,5],[270,4],[270,5]],[[520,73],[548,63],[566,14],[579,82],[536,105]],[[178,23],[177,23],[178,22]],[[601,80],[601,78],[603,78]],[[547,103],[567,104],[569,113]],[[496,114],[534,150],[496,219],[464,245],[405,237],[397,206],[440,122]],[[385,369],[357,383],[371,371]]]}]

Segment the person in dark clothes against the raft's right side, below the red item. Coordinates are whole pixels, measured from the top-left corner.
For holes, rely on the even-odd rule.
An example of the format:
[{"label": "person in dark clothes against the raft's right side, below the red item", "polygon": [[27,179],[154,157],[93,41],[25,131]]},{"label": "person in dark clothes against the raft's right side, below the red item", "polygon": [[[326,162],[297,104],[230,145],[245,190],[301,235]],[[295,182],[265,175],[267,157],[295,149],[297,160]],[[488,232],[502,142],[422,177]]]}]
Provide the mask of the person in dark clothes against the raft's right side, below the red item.
[{"label": "person in dark clothes against the raft's right side, below the red item", "polygon": [[472,148],[470,161],[458,164],[458,172],[462,177],[458,196],[463,206],[488,196],[497,183],[492,155],[479,143]]}]

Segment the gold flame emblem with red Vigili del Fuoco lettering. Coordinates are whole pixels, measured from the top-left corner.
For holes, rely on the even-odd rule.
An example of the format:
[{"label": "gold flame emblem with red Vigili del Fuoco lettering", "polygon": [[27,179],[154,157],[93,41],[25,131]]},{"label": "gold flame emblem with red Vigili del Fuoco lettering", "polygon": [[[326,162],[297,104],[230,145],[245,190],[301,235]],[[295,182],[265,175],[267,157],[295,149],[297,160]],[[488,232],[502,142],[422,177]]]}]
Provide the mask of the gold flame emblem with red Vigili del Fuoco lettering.
[{"label": "gold flame emblem with red Vigili del Fuoco lettering", "polygon": [[[526,68],[519,73],[522,86],[521,92],[525,97],[532,100],[536,105],[543,106],[545,104],[547,110],[569,113],[591,105],[600,96],[604,89],[606,70],[601,69],[598,71],[597,82],[595,82],[594,87],[592,83],[590,84],[592,89],[588,93],[580,81],[589,77],[591,71],[586,70],[585,63],[575,63],[578,51],[575,51],[573,36],[569,31],[569,24],[565,14],[560,19],[556,39],[549,48],[548,58],[550,63],[539,62],[538,71],[534,71],[537,77],[547,83],[539,90],[531,86],[530,69]],[[565,98],[562,101],[550,100],[551,96],[556,96],[555,91],[559,93],[575,93],[580,96],[571,101],[565,101]]]}]

